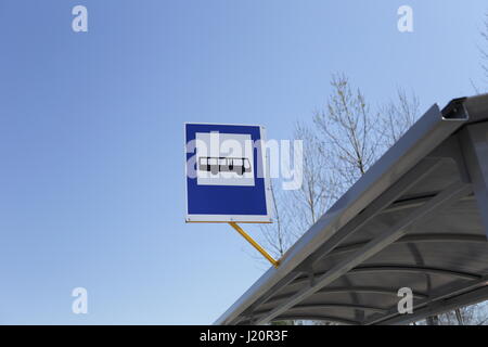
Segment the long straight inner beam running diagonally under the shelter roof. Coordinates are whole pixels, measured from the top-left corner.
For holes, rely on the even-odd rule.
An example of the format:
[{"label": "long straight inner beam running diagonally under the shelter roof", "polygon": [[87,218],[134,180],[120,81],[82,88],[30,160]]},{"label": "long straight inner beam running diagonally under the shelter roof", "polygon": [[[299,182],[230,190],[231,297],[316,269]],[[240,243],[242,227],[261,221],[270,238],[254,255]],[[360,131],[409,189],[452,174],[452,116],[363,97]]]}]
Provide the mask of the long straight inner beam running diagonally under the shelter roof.
[{"label": "long straight inner beam running diagonally under the shelter roof", "polygon": [[[257,324],[265,324],[270,320],[274,319],[275,317],[286,312],[290,308],[299,304],[313,293],[320,291],[322,287],[331,284],[332,282],[341,278],[343,274],[347,273],[352,268],[360,265],[365,259],[372,257],[373,255],[375,255],[376,253],[378,253],[393,242],[403,236],[409,230],[409,228],[411,228],[419,221],[423,220],[424,218],[428,217],[432,213],[450,205],[451,203],[458,201],[459,198],[467,195],[471,192],[472,192],[471,185],[464,182],[455,182],[449,185],[439,194],[437,194],[435,197],[433,197],[431,201],[413,210],[407,218],[400,220],[391,228],[385,230],[376,239],[370,241],[363,247],[361,247],[360,249],[348,256],[346,259],[344,259],[336,266],[334,266],[326,273],[316,279],[313,285],[306,286],[282,305],[275,307],[267,314],[261,316],[257,320]],[[374,203],[372,205],[374,205]]]}]

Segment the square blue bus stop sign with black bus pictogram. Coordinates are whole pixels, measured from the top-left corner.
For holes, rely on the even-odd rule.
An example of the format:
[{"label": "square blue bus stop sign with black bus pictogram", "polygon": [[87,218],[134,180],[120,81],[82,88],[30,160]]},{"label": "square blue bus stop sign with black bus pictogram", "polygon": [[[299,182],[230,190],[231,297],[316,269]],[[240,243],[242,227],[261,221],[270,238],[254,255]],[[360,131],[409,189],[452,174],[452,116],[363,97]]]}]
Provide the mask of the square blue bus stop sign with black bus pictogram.
[{"label": "square blue bus stop sign with black bus pictogram", "polygon": [[260,126],[185,124],[187,222],[271,222]]}]

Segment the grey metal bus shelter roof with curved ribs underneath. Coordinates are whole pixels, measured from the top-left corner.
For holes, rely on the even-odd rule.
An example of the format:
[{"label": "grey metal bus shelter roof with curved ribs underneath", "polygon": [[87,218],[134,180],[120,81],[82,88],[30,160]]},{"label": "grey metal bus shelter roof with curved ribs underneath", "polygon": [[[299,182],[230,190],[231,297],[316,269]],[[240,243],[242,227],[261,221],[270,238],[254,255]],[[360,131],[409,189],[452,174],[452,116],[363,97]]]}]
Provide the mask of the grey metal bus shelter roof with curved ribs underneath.
[{"label": "grey metal bus shelter roof with curved ribs underneath", "polygon": [[[215,323],[400,324],[488,299],[487,231],[485,94],[432,106]],[[388,281],[413,287],[413,314]]]}]

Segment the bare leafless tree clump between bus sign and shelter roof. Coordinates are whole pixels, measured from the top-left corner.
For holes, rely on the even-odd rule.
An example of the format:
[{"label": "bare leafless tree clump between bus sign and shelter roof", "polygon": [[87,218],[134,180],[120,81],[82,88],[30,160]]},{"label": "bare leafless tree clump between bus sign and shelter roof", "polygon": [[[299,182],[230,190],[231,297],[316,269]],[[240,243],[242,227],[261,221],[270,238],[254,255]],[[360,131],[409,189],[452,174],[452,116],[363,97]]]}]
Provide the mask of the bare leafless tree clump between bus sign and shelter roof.
[{"label": "bare leafless tree clump between bus sign and shelter roof", "polygon": [[303,141],[303,184],[295,191],[272,187],[275,223],[262,226],[264,244],[281,257],[419,116],[419,100],[402,89],[397,99],[371,111],[344,74],[331,79],[331,93],[311,125],[295,126]]}]

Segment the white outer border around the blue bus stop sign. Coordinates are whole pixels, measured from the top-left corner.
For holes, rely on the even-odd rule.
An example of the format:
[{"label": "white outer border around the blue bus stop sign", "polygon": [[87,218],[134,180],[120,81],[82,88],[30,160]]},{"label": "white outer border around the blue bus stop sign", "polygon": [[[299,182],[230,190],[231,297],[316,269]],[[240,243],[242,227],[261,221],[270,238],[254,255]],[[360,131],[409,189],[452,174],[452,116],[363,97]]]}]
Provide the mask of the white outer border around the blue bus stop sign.
[{"label": "white outer border around the blue bus stop sign", "polygon": [[[233,126],[233,127],[259,127],[259,136],[261,140],[261,160],[262,169],[265,171],[265,198],[266,198],[266,215],[190,215],[188,213],[188,163],[187,163],[187,125],[210,125],[210,126]],[[217,123],[190,123],[183,124],[183,138],[184,138],[184,205],[187,223],[221,223],[221,222],[242,222],[242,223],[272,223],[273,217],[271,211],[272,196],[271,196],[271,182],[269,178],[269,163],[268,152],[264,144],[266,143],[266,128],[257,125],[241,125],[241,124],[217,124]],[[256,168],[257,170],[257,168]],[[257,171],[256,171],[257,172]]]}]

